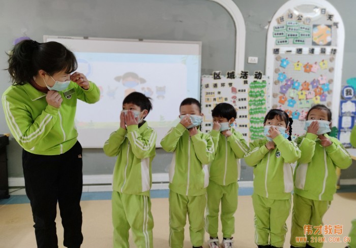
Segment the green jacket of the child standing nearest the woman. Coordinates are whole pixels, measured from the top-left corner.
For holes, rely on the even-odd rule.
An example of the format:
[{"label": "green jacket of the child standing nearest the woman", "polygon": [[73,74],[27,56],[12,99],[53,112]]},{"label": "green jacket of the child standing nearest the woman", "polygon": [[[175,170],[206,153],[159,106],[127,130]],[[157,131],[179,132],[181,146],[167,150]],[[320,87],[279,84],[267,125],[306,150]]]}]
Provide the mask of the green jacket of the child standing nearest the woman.
[{"label": "green jacket of the child standing nearest the woman", "polygon": [[156,155],[157,134],[144,122],[110,134],[104,145],[106,155],[117,156],[113,172],[113,190],[125,194],[150,196],[152,160]]}]

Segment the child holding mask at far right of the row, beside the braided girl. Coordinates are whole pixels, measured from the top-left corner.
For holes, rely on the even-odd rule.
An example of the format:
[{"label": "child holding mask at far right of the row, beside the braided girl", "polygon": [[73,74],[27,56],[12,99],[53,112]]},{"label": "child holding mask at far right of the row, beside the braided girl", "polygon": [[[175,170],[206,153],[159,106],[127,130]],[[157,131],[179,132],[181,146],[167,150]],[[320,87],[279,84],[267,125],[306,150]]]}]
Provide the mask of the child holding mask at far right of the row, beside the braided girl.
[{"label": "child holding mask at far right of the row, beside the braided girl", "polygon": [[[322,231],[315,227],[323,225],[322,217],[336,192],[336,167],[346,169],[352,162],[340,141],[327,134],[330,127],[331,111],[315,105],[307,114],[307,133],[296,140],[302,156],[294,171],[291,247],[322,247],[317,242]],[[296,237],[305,236],[305,225],[312,228],[308,243],[297,242]]]}]

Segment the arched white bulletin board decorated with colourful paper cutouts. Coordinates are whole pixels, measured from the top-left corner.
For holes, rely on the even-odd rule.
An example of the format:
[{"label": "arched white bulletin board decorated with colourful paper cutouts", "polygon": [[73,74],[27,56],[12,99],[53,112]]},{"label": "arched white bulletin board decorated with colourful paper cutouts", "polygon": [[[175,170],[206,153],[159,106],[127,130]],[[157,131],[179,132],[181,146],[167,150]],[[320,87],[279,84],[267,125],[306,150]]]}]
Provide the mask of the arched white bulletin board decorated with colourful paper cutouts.
[{"label": "arched white bulletin board decorated with colourful paper cutouts", "polygon": [[292,139],[305,133],[308,110],[324,104],[338,126],[344,28],[326,1],[294,1],[283,5],[269,27],[266,75],[270,76],[270,108],[293,119]]}]

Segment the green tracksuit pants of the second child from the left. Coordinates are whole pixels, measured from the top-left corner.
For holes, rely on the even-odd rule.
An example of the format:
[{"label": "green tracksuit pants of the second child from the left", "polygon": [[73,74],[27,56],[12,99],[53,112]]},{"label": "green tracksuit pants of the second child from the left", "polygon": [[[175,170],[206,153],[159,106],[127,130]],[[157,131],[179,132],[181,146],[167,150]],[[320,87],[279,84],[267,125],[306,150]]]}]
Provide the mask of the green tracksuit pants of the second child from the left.
[{"label": "green tracksuit pants of the second child from the left", "polygon": [[169,246],[182,248],[184,227],[187,214],[189,220],[190,241],[193,246],[201,246],[204,242],[204,210],[206,194],[186,196],[169,191]]}]

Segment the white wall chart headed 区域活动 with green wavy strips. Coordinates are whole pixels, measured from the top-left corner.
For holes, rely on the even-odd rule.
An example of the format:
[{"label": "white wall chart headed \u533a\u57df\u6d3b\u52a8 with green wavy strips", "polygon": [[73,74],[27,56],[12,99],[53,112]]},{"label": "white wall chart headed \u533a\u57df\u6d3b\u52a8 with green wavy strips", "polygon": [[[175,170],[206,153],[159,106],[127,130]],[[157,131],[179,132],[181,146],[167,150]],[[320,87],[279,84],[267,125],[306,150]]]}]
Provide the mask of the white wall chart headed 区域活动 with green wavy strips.
[{"label": "white wall chart headed \u533a\u57df\u6d3b\u52a8 with green wavy strips", "polygon": [[202,76],[202,131],[212,130],[212,110],[217,104],[226,102],[236,109],[237,117],[233,127],[243,134],[246,141],[263,137],[268,82],[268,78],[262,76],[261,72],[255,72],[253,76],[249,72],[235,75],[234,71],[227,72],[226,76],[221,72],[214,72],[213,76]]}]

